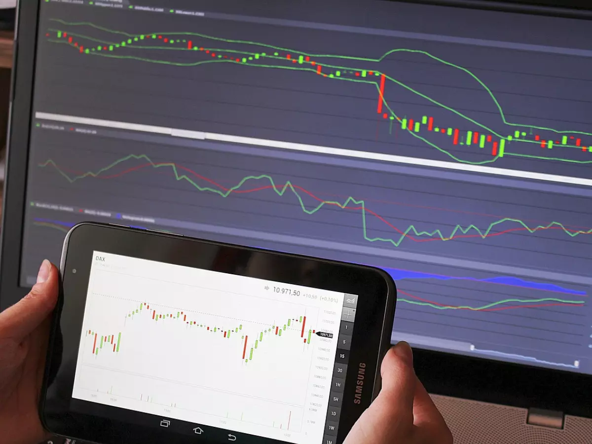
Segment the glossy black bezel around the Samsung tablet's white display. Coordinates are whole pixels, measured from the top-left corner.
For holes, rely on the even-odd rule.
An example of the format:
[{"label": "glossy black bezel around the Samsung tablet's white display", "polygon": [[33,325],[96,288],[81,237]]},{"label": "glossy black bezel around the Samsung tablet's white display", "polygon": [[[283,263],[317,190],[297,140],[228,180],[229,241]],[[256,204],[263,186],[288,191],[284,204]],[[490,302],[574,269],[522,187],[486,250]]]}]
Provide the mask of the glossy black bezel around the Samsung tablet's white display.
[{"label": "glossy black bezel around the Samsung tablet's white display", "polygon": [[[378,393],[380,362],[390,346],[397,294],[394,281],[386,272],[156,231],[83,223],[67,234],[60,264],[62,288],[53,318],[40,401],[41,420],[50,432],[105,444],[126,444],[127,436],[134,436],[134,442],[147,444],[173,438],[175,442],[190,443],[196,439],[192,430],[200,426],[208,430],[207,435],[198,437],[202,442],[224,442],[229,432],[246,444],[280,442],[178,420],[172,420],[163,429],[159,425],[160,416],[72,398],[88,282],[96,252],[358,295],[337,443],[343,442],[353,423]],[[247,266],[250,263],[265,266]],[[364,369],[363,390],[356,384],[359,368]]]}]

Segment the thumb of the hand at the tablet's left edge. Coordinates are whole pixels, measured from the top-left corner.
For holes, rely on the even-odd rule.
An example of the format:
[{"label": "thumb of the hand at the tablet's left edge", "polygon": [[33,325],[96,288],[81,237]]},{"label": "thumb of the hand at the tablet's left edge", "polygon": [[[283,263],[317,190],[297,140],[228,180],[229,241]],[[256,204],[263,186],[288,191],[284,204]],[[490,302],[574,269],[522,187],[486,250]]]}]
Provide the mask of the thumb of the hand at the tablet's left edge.
[{"label": "thumb of the hand at the tablet's left edge", "polygon": [[20,341],[40,326],[56,306],[58,279],[57,268],[44,260],[29,294],[0,313],[0,337]]}]

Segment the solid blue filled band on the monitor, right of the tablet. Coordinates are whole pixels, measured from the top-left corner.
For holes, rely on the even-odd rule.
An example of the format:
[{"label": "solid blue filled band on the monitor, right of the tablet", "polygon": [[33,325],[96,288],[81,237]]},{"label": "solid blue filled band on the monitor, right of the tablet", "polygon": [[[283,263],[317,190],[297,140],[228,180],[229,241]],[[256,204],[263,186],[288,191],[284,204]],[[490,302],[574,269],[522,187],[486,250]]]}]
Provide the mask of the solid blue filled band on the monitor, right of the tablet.
[{"label": "solid blue filled band on the monitor, right of the tablet", "polygon": [[436,275],[431,273],[422,273],[417,271],[402,270],[396,268],[383,268],[388,274],[392,276],[395,281],[403,281],[404,279],[437,279],[439,281],[472,281],[483,282],[485,284],[508,285],[509,287],[530,288],[540,291],[552,291],[556,293],[573,294],[578,296],[587,296],[585,291],[578,291],[571,288],[560,287],[555,284],[542,284],[541,282],[525,281],[524,279],[514,278],[511,276],[497,276],[493,278],[475,279],[469,277],[457,277]]}]

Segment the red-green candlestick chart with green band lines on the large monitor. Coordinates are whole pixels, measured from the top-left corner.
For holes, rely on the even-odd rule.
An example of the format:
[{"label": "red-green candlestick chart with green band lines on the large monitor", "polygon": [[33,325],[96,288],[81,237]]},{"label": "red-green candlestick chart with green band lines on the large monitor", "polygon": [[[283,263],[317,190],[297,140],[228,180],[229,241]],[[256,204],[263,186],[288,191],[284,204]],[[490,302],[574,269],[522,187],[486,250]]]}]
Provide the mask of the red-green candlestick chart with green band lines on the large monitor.
[{"label": "red-green candlestick chart with green band lines on the large monitor", "polygon": [[[415,156],[472,165],[504,164],[504,159],[509,157],[537,161],[529,165],[539,165],[539,161],[553,165],[567,163],[571,165],[573,175],[590,176],[587,165],[592,163],[592,133],[585,131],[584,123],[551,127],[511,121],[507,117],[510,113],[504,111],[500,100],[484,81],[471,70],[448,62],[437,54],[408,48],[391,49],[377,57],[317,54],[270,43],[200,33],[130,34],[91,22],[72,23],[58,19],[53,22],[60,27],[50,28],[47,39],[53,44],[72,47],[82,58],[97,56],[119,63],[156,64],[191,70],[208,69],[214,64],[235,74],[237,69],[240,72],[260,69],[263,78],[274,76],[278,71],[288,71],[291,78],[295,75],[304,79],[316,76],[325,82],[334,82],[337,86],[332,86],[333,89],[352,85],[356,91],[366,91],[375,96],[372,112],[376,117],[372,118],[379,124],[377,131],[387,131],[390,136],[397,133],[398,144],[411,141],[419,147],[414,150]],[[399,56],[411,58],[396,59]],[[432,86],[423,85],[422,88],[421,85],[413,85],[413,82],[401,81],[400,78],[406,77],[401,69],[409,63],[427,63],[435,73],[460,79],[455,80],[456,83],[474,85],[474,94],[478,97],[476,102],[488,102],[484,105],[490,108],[487,118],[485,111],[468,112],[448,105],[445,99],[454,103],[455,100],[458,102],[458,98],[433,92],[435,88]],[[495,118],[491,117],[493,113],[497,114]],[[391,142],[395,141],[393,137]],[[404,147],[397,147],[397,150],[404,150]],[[526,164],[505,163],[503,166],[507,165]],[[544,166],[543,169],[551,170]]]}]

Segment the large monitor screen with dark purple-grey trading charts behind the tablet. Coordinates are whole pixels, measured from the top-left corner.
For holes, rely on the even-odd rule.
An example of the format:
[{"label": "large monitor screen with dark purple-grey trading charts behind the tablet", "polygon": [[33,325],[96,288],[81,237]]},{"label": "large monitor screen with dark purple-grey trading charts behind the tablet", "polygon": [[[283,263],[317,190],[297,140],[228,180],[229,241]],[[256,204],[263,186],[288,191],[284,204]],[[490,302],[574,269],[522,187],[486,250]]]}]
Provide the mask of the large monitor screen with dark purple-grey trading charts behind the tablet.
[{"label": "large monitor screen with dark purple-grey trading charts behind the tablet", "polygon": [[590,22],[40,8],[22,285],[80,221],[165,230],[381,267],[393,342],[592,374]]}]

